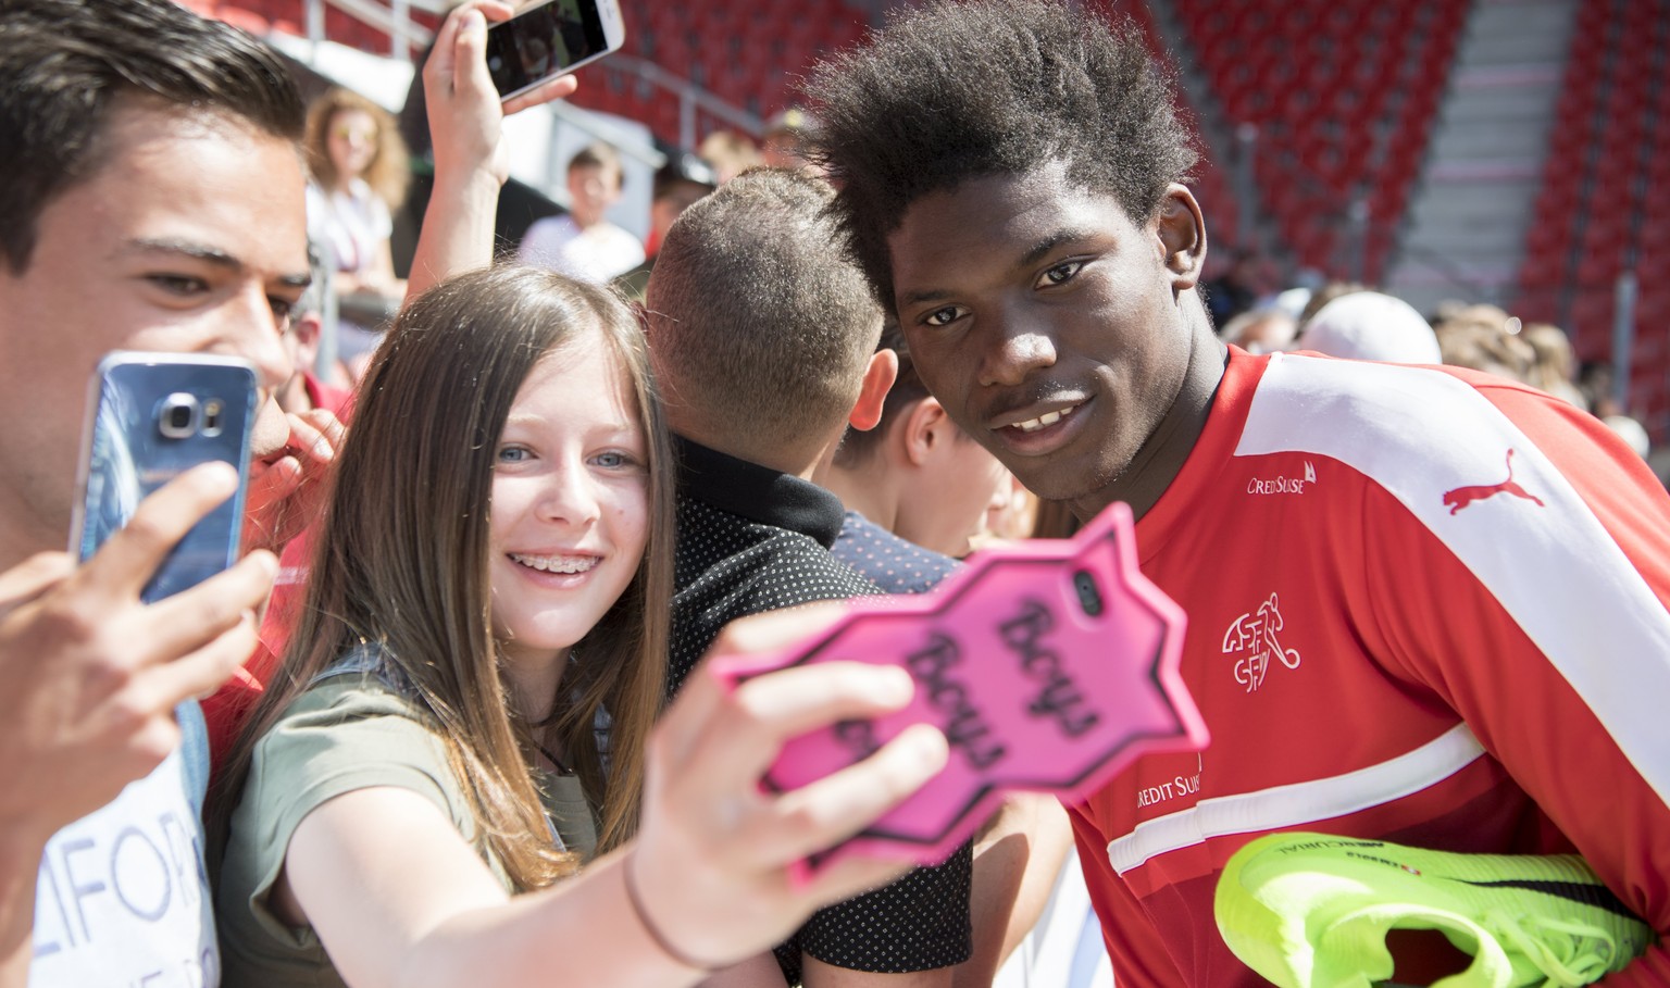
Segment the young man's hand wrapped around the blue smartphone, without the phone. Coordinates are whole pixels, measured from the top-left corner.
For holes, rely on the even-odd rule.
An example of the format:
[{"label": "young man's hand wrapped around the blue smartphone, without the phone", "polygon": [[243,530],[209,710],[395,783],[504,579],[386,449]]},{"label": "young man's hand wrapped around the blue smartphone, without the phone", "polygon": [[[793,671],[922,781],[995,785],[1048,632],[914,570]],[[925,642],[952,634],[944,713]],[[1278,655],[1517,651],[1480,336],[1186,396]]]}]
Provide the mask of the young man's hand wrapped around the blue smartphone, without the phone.
[{"label": "young man's hand wrapped around the blue smartphone, without the phone", "polygon": [[0,823],[20,846],[43,844],[150,773],[179,744],[175,706],[254,651],[254,611],[277,572],[267,552],[140,602],[175,542],[235,489],[232,467],[192,467],[90,561],[42,552],[0,571]]}]

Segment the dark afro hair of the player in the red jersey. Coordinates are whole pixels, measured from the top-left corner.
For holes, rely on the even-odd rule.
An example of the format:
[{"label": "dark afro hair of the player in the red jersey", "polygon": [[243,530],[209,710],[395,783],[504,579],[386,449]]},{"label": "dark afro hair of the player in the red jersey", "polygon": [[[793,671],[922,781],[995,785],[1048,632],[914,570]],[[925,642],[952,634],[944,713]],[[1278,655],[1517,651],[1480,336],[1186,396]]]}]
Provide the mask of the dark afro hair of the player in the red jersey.
[{"label": "dark afro hair of the player in the red jersey", "polygon": [[1086,190],[1152,219],[1197,160],[1191,127],[1132,22],[1059,0],[935,0],[890,15],[803,83],[817,159],[882,305],[887,237],[924,195],[1055,164]]}]

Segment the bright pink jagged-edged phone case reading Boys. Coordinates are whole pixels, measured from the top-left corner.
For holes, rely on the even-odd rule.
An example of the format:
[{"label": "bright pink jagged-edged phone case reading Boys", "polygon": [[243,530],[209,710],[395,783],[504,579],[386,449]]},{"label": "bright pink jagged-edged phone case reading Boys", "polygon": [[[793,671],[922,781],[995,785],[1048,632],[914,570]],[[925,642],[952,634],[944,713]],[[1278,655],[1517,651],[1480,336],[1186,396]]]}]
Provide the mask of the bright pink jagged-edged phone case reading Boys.
[{"label": "bright pink jagged-edged phone case reading Boys", "polygon": [[847,854],[944,861],[1005,789],[1075,801],[1142,753],[1204,748],[1206,724],[1177,673],[1182,631],[1182,609],[1137,571],[1131,509],[1114,504],[1074,539],[977,552],[932,594],[857,599],[823,634],[715,673],[735,686],[840,659],[898,664],[917,681],[895,714],[790,741],[768,789],[820,779],[918,721],[950,741],[939,776],[805,861],[805,880]]}]

